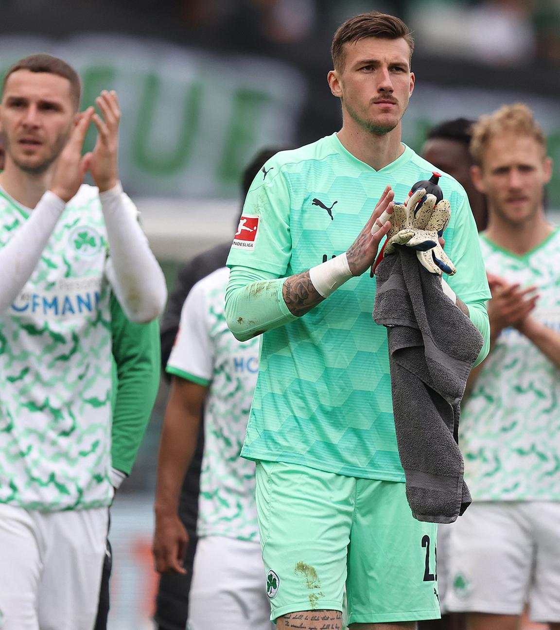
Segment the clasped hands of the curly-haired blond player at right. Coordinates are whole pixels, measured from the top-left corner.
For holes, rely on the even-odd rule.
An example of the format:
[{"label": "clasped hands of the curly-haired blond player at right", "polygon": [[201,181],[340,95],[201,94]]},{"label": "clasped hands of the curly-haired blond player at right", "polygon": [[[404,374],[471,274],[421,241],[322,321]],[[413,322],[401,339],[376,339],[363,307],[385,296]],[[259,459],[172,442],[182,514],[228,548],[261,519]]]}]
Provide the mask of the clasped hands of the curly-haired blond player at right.
[{"label": "clasped hands of the curly-haired blond player at right", "polygon": [[[500,278],[501,280],[501,278]],[[521,289],[518,284],[493,283],[492,299],[488,302],[490,331],[495,337],[508,326],[518,326],[537,305],[537,287]]]}]

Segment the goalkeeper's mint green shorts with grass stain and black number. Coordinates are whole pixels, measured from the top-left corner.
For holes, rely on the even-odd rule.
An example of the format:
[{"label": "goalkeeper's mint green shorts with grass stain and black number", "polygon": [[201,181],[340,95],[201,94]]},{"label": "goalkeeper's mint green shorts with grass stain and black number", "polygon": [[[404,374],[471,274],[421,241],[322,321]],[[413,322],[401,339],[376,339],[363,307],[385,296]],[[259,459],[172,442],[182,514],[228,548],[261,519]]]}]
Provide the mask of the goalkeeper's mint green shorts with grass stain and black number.
[{"label": "goalkeeper's mint green shorts with grass stain and black number", "polygon": [[437,525],[412,517],[404,483],[256,462],[271,616],[343,610],[348,623],[439,619]]}]

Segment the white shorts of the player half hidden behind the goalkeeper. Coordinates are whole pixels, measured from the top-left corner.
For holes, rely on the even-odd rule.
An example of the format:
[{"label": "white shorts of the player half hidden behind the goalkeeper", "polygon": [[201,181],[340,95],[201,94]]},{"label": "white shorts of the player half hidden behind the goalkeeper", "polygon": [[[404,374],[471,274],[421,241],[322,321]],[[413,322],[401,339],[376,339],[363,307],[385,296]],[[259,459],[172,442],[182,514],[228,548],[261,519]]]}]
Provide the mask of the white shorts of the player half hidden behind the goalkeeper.
[{"label": "white shorts of the player half hidden behind the goalkeeper", "polygon": [[198,539],[188,630],[272,630],[259,542],[225,536]]}]

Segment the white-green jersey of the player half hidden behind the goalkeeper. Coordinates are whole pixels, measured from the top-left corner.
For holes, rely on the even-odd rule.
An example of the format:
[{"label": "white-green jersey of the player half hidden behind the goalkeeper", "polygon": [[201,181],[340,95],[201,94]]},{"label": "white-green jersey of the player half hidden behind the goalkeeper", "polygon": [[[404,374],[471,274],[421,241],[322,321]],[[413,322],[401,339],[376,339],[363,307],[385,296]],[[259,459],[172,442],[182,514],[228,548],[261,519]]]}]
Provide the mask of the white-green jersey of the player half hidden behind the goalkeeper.
[{"label": "white-green jersey of the player half hidden behind the goalkeeper", "polygon": [[254,463],[239,453],[258,372],[258,338],[237,341],[227,328],[229,270],[197,282],[186,298],[167,371],[208,387],[198,500],[199,536],[258,540]]}]

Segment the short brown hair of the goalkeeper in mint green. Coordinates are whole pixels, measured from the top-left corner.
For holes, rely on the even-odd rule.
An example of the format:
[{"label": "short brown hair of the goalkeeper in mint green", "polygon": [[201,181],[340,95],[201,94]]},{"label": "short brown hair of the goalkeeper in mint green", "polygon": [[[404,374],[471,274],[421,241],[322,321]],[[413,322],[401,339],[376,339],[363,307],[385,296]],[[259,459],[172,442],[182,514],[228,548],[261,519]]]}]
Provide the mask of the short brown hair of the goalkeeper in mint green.
[{"label": "short brown hair of the goalkeeper in mint green", "polygon": [[400,18],[379,11],[361,13],[346,20],[334,33],[331,45],[333,65],[337,70],[344,69],[344,45],[353,43],[366,37],[379,37],[381,39],[403,38],[410,48],[410,56],[414,52],[414,39],[408,26]]}]

